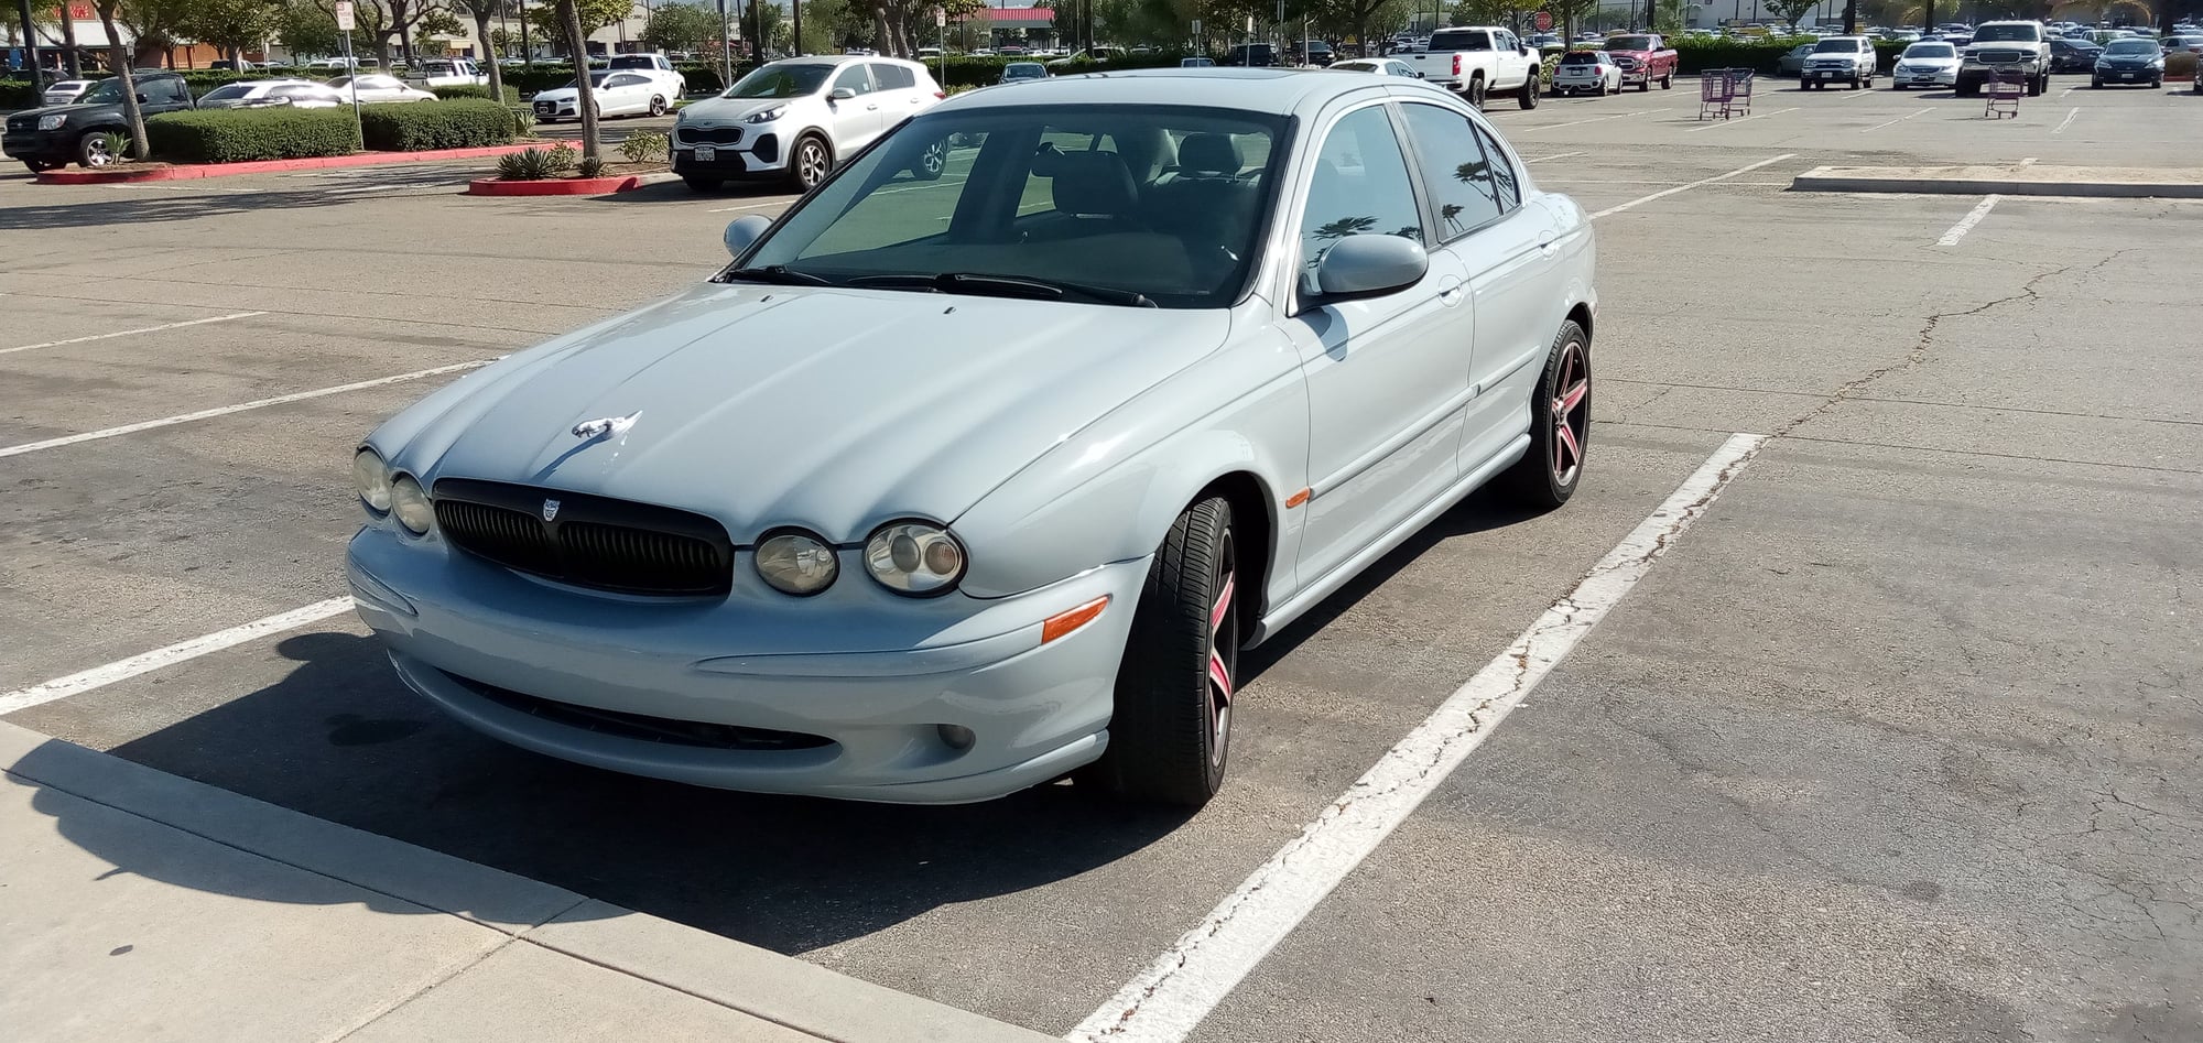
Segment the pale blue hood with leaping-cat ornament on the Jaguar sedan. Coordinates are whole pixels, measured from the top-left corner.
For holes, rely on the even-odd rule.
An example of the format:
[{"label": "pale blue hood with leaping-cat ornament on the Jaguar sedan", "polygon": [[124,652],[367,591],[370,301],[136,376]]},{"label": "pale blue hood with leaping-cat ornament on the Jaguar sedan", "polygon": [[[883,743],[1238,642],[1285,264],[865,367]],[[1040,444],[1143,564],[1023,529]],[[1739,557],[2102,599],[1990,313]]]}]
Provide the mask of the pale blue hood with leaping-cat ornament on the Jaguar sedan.
[{"label": "pale blue hood with leaping-cat ornament on the Jaguar sedan", "polygon": [[892,517],[956,519],[1227,332],[1225,310],[705,284],[493,363],[370,444],[430,482],[679,506],[736,541],[859,541]]}]

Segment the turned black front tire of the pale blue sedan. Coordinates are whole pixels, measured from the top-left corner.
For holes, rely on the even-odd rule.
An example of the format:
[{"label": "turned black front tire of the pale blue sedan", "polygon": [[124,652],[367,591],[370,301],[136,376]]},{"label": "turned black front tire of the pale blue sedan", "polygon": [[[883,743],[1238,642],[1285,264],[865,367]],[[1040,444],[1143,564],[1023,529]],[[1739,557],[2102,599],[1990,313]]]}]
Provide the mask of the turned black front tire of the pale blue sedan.
[{"label": "turned black front tire of the pale blue sedan", "polygon": [[1240,599],[1231,504],[1201,499],[1172,522],[1148,566],[1117,667],[1108,753],[1084,779],[1185,808],[1216,797],[1231,755]]}]

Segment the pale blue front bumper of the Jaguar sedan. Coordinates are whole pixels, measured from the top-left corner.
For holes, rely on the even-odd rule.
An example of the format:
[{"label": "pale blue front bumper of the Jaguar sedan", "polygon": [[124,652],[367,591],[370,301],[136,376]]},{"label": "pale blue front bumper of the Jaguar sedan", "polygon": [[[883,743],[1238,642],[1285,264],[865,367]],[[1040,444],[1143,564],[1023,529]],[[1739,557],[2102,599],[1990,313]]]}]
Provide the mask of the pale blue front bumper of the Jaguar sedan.
[{"label": "pale blue front bumper of the Jaguar sedan", "polygon": [[[751,581],[687,601],[564,588],[375,526],[348,555],[399,678],[476,731],[617,772],[890,803],[985,801],[1102,757],[1146,574],[1119,561],[1009,599],[903,603],[844,592],[870,583],[844,568],[813,599]],[[1040,643],[1042,621],[1104,594],[1099,618]],[[590,711],[612,726],[577,724]],[[685,742],[690,724],[817,742]]]}]

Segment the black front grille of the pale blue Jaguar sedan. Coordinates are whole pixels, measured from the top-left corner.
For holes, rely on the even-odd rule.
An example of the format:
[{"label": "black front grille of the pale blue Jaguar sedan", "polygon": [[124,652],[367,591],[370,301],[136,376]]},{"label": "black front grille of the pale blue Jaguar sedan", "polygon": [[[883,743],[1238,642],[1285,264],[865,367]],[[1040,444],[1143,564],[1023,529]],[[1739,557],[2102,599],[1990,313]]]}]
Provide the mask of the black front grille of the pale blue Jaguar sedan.
[{"label": "black front grille of the pale blue Jaguar sedan", "polygon": [[516,572],[623,594],[725,596],[734,585],[734,541],[705,515],[467,477],[436,482],[434,499],[452,546]]}]

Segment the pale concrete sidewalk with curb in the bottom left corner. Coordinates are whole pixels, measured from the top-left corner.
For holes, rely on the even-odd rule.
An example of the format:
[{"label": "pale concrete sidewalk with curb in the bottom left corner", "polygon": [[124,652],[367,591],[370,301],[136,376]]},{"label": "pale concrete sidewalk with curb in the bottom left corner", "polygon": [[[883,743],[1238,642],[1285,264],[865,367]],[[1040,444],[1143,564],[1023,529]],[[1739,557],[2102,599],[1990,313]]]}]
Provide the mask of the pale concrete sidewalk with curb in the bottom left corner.
[{"label": "pale concrete sidewalk with curb in the bottom left corner", "polygon": [[0,722],[9,1039],[1044,1041]]}]

